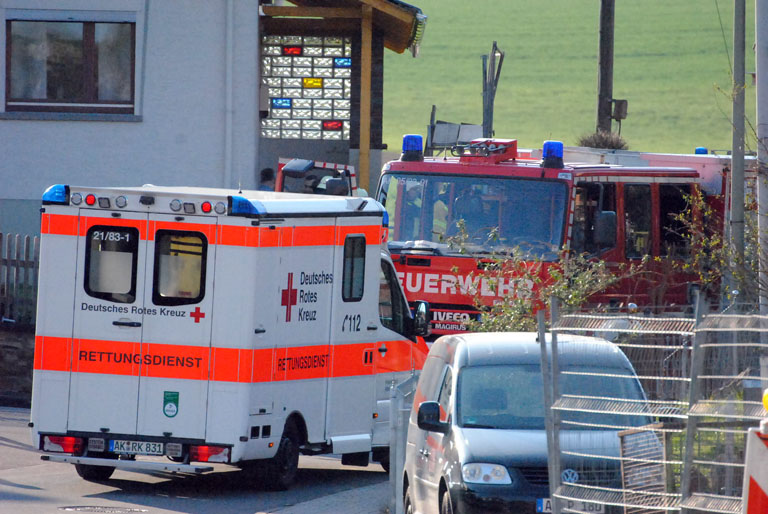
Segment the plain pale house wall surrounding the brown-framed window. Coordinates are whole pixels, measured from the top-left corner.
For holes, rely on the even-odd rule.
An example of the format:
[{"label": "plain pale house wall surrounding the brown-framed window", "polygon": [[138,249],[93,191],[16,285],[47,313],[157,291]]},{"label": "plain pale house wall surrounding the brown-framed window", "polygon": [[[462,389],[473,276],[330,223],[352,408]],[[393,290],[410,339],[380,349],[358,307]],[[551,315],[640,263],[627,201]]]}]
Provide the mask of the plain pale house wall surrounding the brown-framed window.
[{"label": "plain pale house wall surrounding the brown-framed window", "polygon": [[28,226],[42,192],[56,183],[255,187],[257,2],[0,0],[3,86],[6,13],[18,9],[134,13],[137,107],[135,117],[112,117],[125,121],[30,119],[35,115],[4,112],[2,87],[0,232],[23,231],[14,225]]}]

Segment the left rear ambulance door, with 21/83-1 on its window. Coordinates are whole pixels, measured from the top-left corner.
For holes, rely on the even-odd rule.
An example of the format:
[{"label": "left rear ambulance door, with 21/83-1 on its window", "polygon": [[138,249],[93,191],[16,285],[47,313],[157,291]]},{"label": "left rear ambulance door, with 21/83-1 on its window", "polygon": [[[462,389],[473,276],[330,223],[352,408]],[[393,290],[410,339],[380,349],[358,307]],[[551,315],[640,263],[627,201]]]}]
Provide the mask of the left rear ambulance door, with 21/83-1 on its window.
[{"label": "left rear ambulance door, with 21/83-1 on its window", "polygon": [[142,359],[147,215],[95,209],[79,214],[67,428],[132,434]]}]

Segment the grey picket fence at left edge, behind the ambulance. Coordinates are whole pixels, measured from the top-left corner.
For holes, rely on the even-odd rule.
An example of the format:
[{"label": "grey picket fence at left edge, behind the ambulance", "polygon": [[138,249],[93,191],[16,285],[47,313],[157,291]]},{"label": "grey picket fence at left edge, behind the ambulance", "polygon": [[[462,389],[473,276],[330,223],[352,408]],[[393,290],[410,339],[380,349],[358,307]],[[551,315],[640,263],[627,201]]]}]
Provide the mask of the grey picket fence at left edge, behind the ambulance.
[{"label": "grey picket fence at left edge, behind the ambulance", "polygon": [[0,318],[3,325],[34,325],[39,265],[38,237],[0,233]]}]

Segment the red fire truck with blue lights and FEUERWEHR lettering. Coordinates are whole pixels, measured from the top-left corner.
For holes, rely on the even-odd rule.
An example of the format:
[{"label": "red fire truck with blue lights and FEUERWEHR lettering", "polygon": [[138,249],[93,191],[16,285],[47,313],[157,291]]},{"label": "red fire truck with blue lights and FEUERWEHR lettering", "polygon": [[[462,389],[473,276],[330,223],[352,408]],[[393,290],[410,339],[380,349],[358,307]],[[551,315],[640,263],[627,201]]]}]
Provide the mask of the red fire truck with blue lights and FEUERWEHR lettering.
[{"label": "red fire truck with blue lights and FEUERWEHR lettering", "polygon": [[[430,302],[433,334],[466,331],[478,315],[475,296],[490,305],[514,290],[512,280],[490,284],[477,273],[484,256],[513,249],[543,261],[545,273],[561,249],[615,268],[659,257],[595,301],[690,303],[693,277],[669,267],[690,251],[676,216],[694,191],[722,194],[723,158],[694,169],[698,161],[690,159],[619,165],[595,154],[566,163],[563,151],[557,141],[545,142],[537,155],[518,151],[514,139],[478,139],[454,147],[451,156],[425,158],[421,136],[404,137],[403,154],[384,166],[376,195],[389,213],[398,277],[409,298]],[[464,245],[451,244],[460,233]]]}]

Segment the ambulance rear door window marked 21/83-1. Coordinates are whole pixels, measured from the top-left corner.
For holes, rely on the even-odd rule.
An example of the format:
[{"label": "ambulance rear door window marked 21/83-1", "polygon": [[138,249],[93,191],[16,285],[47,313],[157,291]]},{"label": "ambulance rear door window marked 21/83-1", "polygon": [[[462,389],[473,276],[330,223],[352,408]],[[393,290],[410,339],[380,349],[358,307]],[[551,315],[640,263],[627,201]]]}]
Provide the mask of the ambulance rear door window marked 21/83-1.
[{"label": "ambulance rear door window marked 21/83-1", "polygon": [[88,230],[85,240],[85,292],[110,302],[133,303],[138,229],[98,225]]}]

